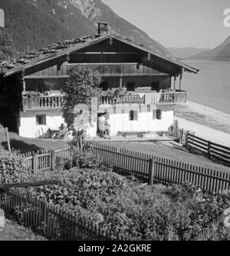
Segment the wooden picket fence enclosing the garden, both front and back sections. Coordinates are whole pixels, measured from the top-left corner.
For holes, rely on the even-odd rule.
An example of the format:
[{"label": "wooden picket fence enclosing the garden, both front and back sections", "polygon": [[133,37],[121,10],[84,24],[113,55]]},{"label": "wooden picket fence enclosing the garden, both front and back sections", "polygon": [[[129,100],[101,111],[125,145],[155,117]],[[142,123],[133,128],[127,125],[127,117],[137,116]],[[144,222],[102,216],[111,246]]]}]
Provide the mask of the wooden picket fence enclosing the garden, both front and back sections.
[{"label": "wooden picket fence enclosing the garden, both front and back sections", "polygon": [[[187,135],[188,138],[190,136],[194,137],[195,135]],[[153,183],[163,185],[189,183],[202,188],[203,191],[212,193],[230,189],[230,173],[210,170],[140,151],[117,148],[100,142],[90,142],[90,144],[93,145],[94,155],[101,158],[104,164],[113,166],[115,171],[122,174],[134,175],[136,178],[148,182],[149,185],[153,185]],[[37,171],[44,170],[54,167],[54,163],[57,161],[69,159],[71,151],[72,147],[69,144],[52,148],[47,152],[38,152],[40,155],[28,153],[25,154],[25,162]],[[33,201],[28,195],[7,191],[0,195],[0,199],[0,208],[4,209],[7,217],[12,217],[15,214],[14,209],[19,208],[22,214],[22,224],[49,240],[91,241],[113,240],[114,238],[111,231],[107,231],[105,234],[94,224],[78,220],[70,212],[54,205],[43,201]],[[221,221],[220,217],[216,222],[218,226]],[[197,240],[209,240],[212,235],[213,231],[207,229],[199,235]],[[116,240],[119,239],[122,240],[116,238]]]}]

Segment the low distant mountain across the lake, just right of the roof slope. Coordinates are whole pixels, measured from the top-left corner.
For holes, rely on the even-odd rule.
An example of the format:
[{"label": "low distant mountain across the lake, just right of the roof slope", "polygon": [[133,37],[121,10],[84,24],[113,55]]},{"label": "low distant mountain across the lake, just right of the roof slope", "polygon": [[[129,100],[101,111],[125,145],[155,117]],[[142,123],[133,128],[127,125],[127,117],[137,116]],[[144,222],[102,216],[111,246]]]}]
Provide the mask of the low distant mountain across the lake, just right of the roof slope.
[{"label": "low distant mountain across the lake, just right of the roof slope", "polygon": [[186,47],[186,48],[167,48],[167,50],[171,53],[173,57],[176,58],[189,58],[193,55],[197,55],[201,52],[209,51],[209,48],[194,48],[194,47]]}]

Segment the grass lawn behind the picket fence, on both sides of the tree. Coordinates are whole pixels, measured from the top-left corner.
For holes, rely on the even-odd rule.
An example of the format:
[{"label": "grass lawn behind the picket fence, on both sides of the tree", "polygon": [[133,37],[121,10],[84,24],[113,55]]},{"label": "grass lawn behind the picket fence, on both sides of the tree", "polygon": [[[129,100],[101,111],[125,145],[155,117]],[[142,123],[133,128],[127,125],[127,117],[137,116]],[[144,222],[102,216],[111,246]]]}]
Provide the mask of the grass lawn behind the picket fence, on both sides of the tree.
[{"label": "grass lawn behind the picket fence, on both sides of the tree", "polygon": [[[47,139],[36,139],[36,138],[22,138],[15,133],[9,133],[11,148],[20,149],[21,151],[38,151],[39,149],[48,149],[52,145],[60,145],[63,141],[51,141]],[[119,141],[107,142],[110,145],[116,145],[118,148],[127,148],[130,150],[143,151],[152,155],[159,155],[164,158],[170,158],[175,161],[184,161],[187,163],[200,165],[205,168],[210,168],[218,171],[230,171],[230,168],[219,165],[203,155],[195,155],[189,153],[185,148],[180,148],[172,145],[163,145],[159,141],[142,141],[142,142],[130,142],[130,141]],[[8,152],[7,141],[5,138],[5,130],[0,127],[0,152],[1,149],[4,153]]]}]

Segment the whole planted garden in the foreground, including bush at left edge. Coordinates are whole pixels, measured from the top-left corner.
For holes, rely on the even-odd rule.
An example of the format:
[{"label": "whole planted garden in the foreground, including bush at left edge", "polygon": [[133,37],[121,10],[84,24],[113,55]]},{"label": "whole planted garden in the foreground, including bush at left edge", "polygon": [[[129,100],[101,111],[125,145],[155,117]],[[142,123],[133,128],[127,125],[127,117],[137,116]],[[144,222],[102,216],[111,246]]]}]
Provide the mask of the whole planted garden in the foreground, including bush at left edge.
[{"label": "whole planted garden in the foreground, including bush at left edge", "polygon": [[[77,218],[96,224],[101,230],[113,230],[123,240],[191,241],[226,208],[230,192],[210,194],[192,185],[143,185],[133,176],[121,176],[101,164],[88,148],[80,157],[57,165],[54,171],[31,173],[21,155],[15,153],[0,161],[0,182],[16,183],[44,179],[57,185],[20,188],[35,200],[71,211]],[[15,221],[23,223],[15,208]],[[228,228],[222,228],[210,240],[229,240]]]}]

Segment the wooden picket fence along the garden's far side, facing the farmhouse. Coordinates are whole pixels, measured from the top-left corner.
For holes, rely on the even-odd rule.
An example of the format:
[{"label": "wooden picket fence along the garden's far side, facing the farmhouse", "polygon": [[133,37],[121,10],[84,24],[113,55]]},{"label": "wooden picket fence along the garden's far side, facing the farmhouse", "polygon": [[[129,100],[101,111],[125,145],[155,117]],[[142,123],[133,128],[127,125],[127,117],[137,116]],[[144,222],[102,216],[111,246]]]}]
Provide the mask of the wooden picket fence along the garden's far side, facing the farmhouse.
[{"label": "wooden picket fence along the garden's far side, facing the farmhouse", "polygon": [[[190,138],[197,137],[187,134]],[[230,173],[216,171],[189,163],[162,158],[156,155],[145,154],[140,151],[130,151],[116,148],[100,142],[91,142],[94,155],[103,159],[104,164],[111,165],[120,174],[134,175],[141,181],[162,183],[163,185],[189,183],[202,188],[203,191],[215,192],[230,189]],[[215,148],[215,147],[213,147]],[[210,155],[213,153],[210,151]],[[58,145],[49,151],[40,151],[25,154],[26,165],[34,171],[55,168],[60,161],[69,160],[73,154],[71,144]]]}]

